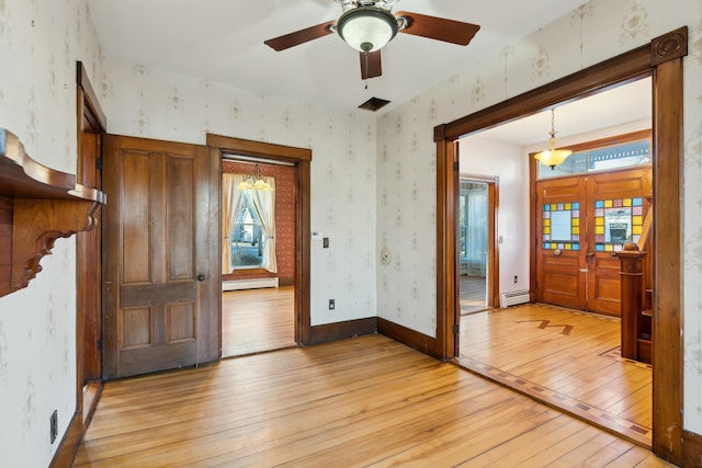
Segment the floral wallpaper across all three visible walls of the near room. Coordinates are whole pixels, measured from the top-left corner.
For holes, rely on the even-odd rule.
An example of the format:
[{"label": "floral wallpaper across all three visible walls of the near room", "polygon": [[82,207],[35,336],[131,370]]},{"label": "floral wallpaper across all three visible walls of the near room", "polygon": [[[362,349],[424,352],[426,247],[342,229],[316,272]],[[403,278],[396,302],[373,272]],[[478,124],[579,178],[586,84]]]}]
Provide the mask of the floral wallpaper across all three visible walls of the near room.
[{"label": "floral wallpaper across all three visible walls of the near room", "polygon": [[[204,144],[207,133],[313,150],[313,326],[380,316],[435,334],[433,126],[626,52],[681,25],[684,60],[684,426],[702,434],[702,2],[591,0],[499,54],[465,64],[383,115],[332,111],[103,58],[86,0],[0,0],[0,127],[30,155],[76,171],[75,64],[109,130]],[[378,261],[386,248],[390,263]],[[0,465],[46,466],[75,409],[75,239],[29,288],[0,298]],[[336,299],[336,310],[327,301]]]}]

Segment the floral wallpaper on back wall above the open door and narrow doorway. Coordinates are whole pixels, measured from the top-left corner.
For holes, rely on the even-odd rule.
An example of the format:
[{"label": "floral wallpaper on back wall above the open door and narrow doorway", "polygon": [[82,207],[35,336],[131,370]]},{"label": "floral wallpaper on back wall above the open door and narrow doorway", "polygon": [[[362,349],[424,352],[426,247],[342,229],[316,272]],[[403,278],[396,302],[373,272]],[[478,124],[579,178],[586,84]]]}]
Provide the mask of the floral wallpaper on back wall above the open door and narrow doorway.
[{"label": "floral wallpaper on back wall above the open door and narrow doorway", "polygon": [[[312,324],[375,317],[375,116],[329,111],[117,60],[98,85],[110,133],[204,144],[207,133],[310,148]],[[118,96],[118,99],[117,99]],[[321,236],[319,237],[321,238]],[[329,299],[336,309],[328,310]]]}]

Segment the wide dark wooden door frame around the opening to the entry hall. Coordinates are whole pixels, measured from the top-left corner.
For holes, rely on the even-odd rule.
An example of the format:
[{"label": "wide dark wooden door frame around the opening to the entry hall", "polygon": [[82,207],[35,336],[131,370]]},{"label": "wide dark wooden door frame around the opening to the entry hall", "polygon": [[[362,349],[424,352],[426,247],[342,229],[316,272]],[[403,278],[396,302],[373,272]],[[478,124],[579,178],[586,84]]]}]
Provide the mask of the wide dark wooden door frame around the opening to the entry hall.
[{"label": "wide dark wooden door frame around the opening to the entry hall", "polygon": [[[455,357],[455,141],[464,135],[535,114],[645,76],[653,77],[654,344],[653,452],[676,465],[693,450],[682,430],[682,233],[683,66],[687,26],[631,52],[434,127],[437,144],[437,349]],[[665,260],[664,260],[665,259]],[[697,441],[699,443],[699,441]],[[686,450],[687,447],[690,447]],[[699,448],[699,447],[698,447]]]}]

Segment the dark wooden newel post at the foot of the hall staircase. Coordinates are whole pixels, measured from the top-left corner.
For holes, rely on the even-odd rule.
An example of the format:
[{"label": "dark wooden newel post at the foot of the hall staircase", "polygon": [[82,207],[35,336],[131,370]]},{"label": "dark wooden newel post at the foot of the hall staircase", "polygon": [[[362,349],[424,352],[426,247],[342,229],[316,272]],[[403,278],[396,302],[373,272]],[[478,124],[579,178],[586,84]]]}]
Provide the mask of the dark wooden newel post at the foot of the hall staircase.
[{"label": "dark wooden newel post at the foot of the hall staircase", "polygon": [[638,316],[643,310],[646,252],[639,251],[635,243],[627,243],[616,256],[621,261],[622,357],[638,359]]}]

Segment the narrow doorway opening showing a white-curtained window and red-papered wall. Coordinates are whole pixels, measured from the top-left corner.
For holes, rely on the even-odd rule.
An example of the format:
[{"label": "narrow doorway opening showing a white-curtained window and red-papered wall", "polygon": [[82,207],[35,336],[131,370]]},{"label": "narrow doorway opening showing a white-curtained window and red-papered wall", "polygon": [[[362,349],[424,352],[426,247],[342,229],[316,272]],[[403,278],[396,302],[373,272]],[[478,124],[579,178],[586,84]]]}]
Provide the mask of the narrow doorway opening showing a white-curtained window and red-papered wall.
[{"label": "narrow doorway opening showing a white-curtained window and red-papered wall", "polygon": [[296,167],[225,153],[222,178],[222,356],[295,346]]}]

